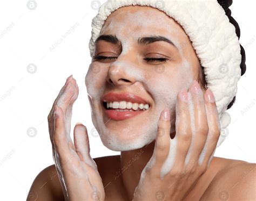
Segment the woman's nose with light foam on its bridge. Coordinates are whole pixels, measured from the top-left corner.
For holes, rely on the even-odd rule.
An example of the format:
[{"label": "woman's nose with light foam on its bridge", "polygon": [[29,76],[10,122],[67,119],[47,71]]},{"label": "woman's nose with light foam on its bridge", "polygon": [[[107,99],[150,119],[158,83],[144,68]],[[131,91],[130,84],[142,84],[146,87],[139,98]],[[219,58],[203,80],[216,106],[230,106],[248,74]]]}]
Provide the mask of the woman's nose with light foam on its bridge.
[{"label": "woman's nose with light foam on its bridge", "polygon": [[131,70],[129,63],[120,60],[114,61],[107,72],[107,82],[113,86],[131,85],[136,82],[136,77],[129,74],[129,70]]}]

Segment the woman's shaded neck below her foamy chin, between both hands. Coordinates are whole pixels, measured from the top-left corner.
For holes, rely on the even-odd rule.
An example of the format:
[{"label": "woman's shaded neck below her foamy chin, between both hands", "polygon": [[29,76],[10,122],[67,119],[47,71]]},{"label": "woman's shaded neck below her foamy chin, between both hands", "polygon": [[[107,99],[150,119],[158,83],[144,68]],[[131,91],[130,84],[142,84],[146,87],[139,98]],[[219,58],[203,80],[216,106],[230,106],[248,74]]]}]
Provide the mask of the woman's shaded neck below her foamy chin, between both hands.
[{"label": "woman's shaded neck below her foamy chin, between both hands", "polygon": [[122,180],[128,200],[132,200],[134,190],[139,183],[140,174],[153,154],[154,142],[139,149],[120,153]]}]

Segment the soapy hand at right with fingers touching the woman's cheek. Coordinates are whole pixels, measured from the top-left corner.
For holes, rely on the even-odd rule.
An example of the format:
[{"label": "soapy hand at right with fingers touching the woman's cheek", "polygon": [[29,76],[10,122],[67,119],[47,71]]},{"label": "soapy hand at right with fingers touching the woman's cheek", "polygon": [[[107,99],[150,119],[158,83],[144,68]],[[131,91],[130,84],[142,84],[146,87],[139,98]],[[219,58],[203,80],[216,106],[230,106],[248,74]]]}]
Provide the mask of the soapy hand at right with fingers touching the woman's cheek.
[{"label": "soapy hand at right with fingers touching the woman's cheek", "polygon": [[[188,95],[188,99],[183,100],[184,95]],[[170,138],[170,113],[164,111],[158,121],[153,155],[142,171],[133,201],[185,200],[215,152],[220,124],[210,90],[203,93],[194,81],[188,92],[179,92],[173,139]]]}]

